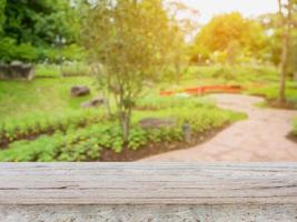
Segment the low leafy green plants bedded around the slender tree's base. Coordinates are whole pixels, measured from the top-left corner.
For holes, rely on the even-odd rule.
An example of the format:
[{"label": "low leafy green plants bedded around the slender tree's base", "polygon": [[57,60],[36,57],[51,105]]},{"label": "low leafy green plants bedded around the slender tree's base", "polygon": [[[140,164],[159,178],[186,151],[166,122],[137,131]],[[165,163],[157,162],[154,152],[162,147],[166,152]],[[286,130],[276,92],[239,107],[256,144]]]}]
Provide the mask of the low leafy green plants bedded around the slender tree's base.
[{"label": "low leafy green plants bedded around the slender tree's base", "polygon": [[[201,133],[245,118],[244,114],[220,110],[211,103],[196,99],[155,99],[158,102],[154,107],[162,109],[136,113],[127,141],[128,149],[138,150],[149,143],[182,141],[181,127],[186,122],[191,125],[194,133]],[[151,100],[154,98],[146,99],[147,102]],[[138,121],[148,117],[176,118],[178,124],[167,128],[141,129],[137,124]],[[103,149],[120,153],[123,148],[121,128],[115,121],[105,120],[80,129],[76,127],[68,127],[66,131],[57,129],[53,135],[41,135],[33,141],[13,142],[8,150],[0,151],[0,161],[93,161],[100,159]]]}]

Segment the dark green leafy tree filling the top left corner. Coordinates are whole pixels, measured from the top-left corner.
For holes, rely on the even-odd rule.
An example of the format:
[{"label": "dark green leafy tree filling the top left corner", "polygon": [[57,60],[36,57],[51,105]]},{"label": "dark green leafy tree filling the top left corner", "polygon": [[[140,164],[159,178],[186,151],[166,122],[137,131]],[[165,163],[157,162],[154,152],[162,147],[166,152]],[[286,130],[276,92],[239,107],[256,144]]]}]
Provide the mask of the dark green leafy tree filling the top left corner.
[{"label": "dark green leafy tree filling the top left corner", "polygon": [[0,0],[0,60],[42,60],[77,42],[77,14],[70,0]]}]

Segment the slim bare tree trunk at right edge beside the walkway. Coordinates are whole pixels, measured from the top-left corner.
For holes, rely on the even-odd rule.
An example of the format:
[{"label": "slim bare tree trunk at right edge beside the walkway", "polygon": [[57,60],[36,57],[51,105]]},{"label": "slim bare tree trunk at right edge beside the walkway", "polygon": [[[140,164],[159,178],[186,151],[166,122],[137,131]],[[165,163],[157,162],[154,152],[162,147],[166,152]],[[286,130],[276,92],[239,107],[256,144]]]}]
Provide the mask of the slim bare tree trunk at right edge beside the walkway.
[{"label": "slim bare tree trunk at right edge beside the walkway", "polygon": [[294,27],[295,0],[278,0],[279,18],[281,21],[281,59],[280,59],[280,87],[279,102],[286,101],[286,79],[289,67],[291,43],[291,28]]}]

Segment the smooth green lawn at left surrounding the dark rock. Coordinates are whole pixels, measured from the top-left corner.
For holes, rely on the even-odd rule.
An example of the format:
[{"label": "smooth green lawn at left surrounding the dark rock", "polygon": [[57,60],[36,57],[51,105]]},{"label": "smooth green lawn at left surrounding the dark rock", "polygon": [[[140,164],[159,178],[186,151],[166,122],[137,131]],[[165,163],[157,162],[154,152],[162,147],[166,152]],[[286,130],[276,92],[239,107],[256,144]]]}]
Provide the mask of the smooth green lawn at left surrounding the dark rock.
[{"label": "smooth green lawn at left surrounding the dark rock", "polygon": [[32,113],[56,114],[78,110],[80,103],[96,97],[72,98],[70,89],[76,84],[92,87],[90,78],[44,78],[32,81],[0,80],[0,122]]}]

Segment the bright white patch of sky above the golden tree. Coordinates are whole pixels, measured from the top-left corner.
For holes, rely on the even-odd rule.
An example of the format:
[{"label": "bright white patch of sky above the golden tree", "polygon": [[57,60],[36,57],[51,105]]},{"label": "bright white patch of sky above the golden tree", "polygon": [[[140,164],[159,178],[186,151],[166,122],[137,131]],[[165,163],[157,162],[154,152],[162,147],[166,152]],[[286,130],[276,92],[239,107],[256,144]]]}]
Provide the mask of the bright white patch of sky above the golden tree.
[{"label": "bright white patch of sky above the golden tree", "polygon": [[199,10],[201,23],[207,23],[215,14],[239,11],[245,17],[277,11],[277,0],[179,0]]}]

